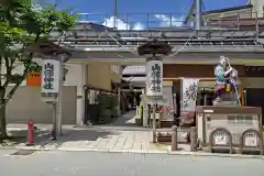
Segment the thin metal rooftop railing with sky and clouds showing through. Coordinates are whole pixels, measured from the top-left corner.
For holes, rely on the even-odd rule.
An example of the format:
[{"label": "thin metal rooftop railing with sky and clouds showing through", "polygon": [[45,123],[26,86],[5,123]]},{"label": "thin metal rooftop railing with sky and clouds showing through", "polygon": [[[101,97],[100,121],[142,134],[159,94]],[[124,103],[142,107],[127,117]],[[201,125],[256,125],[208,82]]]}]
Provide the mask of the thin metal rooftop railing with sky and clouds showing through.
[{"label": "thin metal rooftop railing with sky and clouds showing through", "polygon": [[[125,13],[118,14],[116,24],[112,14],[79,13],[78,22],[92,22],[118,30],[148,30],[164,28],[193,28],[195,14],[184,21],[184,13]],[[263,31],[264,14],[260,12],[221,12],[202,15],[206,29],[232,29],[238,31]]]}]

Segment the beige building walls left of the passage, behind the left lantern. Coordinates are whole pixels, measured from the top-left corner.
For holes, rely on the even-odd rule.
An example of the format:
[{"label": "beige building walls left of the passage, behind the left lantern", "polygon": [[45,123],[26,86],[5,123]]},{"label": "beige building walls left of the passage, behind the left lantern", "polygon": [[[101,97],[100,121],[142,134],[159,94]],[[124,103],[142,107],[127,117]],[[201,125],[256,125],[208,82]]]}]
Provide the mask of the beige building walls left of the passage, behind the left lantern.
[{"label": "beige building walls left of the passage, behind the left lantern", "polygon": [[[35,59],[42,65],[41,59]],[[112,91],[112,82],[119,82],[120,66],[106,64],[65,64],[67,75],[63,88],[63,123],[81,124],[85,113],[84,87],[89,85],[97,89]],[[3,66],[2,69],[6,67]],[[14,74],[22,74],[23,64],[15,65]],[[9,89],[14,85],[10,84]],[[35,123],[52,123],[52,106],[41,98],[40,86],[26,86],[26,79],[21,84],[13,98],[8,103],[7,120],[9,123],[28,122],[30,119]]]}]

